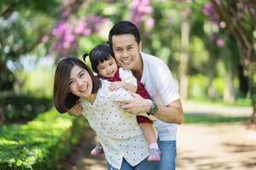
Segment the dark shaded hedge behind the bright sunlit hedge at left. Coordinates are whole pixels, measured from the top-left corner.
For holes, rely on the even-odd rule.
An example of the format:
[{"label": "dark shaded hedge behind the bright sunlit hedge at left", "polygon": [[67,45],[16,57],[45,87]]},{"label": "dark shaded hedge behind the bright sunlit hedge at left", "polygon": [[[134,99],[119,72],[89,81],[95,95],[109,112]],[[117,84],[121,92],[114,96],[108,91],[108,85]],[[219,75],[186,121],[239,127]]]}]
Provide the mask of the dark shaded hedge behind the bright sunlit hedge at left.
[{"label": "dark shaded hedge behind the bright sunlit hedge at left", "polygon": [[52,107],[52,100],[30,96],[1,96],[0,114],[5,121],[32,120],[39,113],[48,111]]}]

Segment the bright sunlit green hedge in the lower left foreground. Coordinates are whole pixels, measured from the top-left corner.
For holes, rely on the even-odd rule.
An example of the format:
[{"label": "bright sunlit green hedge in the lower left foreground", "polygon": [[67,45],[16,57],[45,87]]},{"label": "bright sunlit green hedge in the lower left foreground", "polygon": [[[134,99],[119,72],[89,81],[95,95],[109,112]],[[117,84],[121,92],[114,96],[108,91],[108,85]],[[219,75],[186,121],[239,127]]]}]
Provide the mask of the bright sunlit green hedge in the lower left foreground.
[{"label": "bright sunlit green hedge in the lower left foreground", "polygon": [[84,122],[51,110],[26,125],[0,127],[0,169],[54,169],[79,142]]}]

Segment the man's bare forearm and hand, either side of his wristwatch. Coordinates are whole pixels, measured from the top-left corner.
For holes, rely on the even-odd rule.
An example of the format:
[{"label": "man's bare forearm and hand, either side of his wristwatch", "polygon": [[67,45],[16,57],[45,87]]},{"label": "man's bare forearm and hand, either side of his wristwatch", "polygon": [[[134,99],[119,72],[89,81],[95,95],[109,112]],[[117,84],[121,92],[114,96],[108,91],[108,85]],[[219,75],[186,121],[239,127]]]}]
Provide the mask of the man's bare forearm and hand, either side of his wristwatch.
[{"label": "man's bare forearm and hand, either side of his wristwatch", "polygon": [[[134,99],[119,100],[122,108],[131,114],[141,115],[150,111],[152,103],[148,99],[143,99],[139,94],[130,92]],[[169,105],[158,105],[158,111],[154,115],[163,122],[181,124],[183,122],[183,107],[180,99],[175,100]]]}]

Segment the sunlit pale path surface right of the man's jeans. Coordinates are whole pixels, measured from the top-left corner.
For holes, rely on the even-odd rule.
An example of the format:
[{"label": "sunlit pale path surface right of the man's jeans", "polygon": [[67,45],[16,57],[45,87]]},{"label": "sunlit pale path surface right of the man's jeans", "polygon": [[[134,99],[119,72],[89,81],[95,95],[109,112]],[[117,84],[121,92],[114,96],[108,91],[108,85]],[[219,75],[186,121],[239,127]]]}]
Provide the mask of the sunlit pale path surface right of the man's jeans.
[{"label": "sunlit pale path surface right of the man's jeans", "polygon": [[177,170],[256,170],[255,137],[238,124],[179,126]]}]

